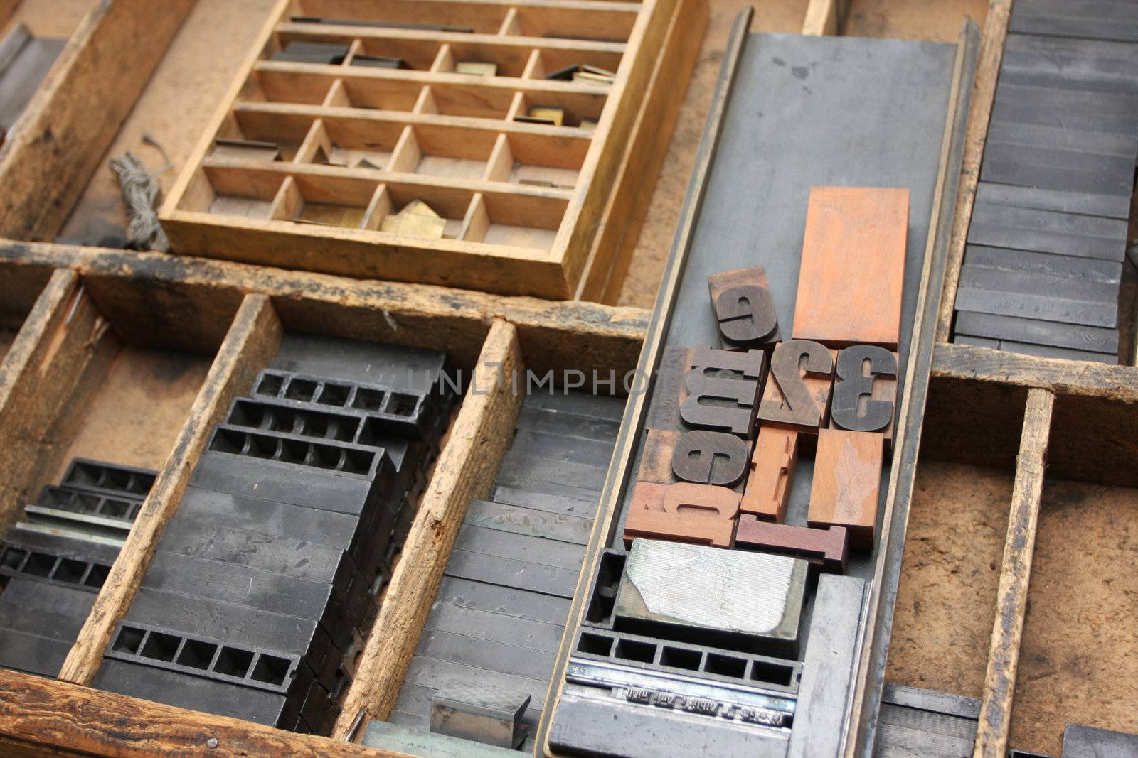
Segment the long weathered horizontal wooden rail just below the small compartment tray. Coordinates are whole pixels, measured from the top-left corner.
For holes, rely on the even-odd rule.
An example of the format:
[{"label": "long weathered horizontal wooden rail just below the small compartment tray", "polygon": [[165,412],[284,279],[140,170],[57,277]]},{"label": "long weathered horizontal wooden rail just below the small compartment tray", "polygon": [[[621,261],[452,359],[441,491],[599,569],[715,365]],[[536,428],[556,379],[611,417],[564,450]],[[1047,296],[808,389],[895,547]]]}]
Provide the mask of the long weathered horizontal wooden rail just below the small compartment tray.
[{"label": "long weathered horizontal wooden rail just below the small compartment tray", "polygon": [[0,243],[0,272],[48,266],[77,269],[116,327],[143,322],[147,328],[135,330],[132,341],[162,332],[191,338],[185,349],[215,350],[241,298],[258,292],[272,298],[286,328],[446,350],[467,368],[477,361],[490,324],[502,318],[517,328],[527,367],[577,368],[589,378],[595,370],[601,380],[612,372],[617,392],[636,367],[649,317],[641,308],[345,280],[157,252]]}]

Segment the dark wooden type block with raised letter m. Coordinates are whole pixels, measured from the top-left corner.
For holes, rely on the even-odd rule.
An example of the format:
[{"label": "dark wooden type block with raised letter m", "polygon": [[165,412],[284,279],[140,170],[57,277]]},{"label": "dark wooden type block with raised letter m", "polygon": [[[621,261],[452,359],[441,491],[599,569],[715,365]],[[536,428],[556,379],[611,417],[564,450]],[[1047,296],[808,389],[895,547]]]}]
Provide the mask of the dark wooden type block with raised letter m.
[{"label": "dark wooden type block with raised letter m", "polygon": [[691,427],[751,439],[765,370],[761,350],[696,348],[684,376],[687,397],[679,403],[681,419]]}]

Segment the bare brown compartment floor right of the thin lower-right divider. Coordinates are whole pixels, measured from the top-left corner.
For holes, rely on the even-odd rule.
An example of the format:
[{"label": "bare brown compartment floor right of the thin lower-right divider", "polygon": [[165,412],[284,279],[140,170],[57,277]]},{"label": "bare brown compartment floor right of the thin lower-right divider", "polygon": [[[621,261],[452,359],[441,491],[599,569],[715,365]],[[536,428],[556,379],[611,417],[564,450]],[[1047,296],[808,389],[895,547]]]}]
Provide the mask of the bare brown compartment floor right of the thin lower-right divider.
[{"label": "bare brown compartment floor right of the thin lower-right divider", "polygon": [[1138,732],[1138,490],[1048,480],[1012,744],[1057,756],[1063,724]]}]

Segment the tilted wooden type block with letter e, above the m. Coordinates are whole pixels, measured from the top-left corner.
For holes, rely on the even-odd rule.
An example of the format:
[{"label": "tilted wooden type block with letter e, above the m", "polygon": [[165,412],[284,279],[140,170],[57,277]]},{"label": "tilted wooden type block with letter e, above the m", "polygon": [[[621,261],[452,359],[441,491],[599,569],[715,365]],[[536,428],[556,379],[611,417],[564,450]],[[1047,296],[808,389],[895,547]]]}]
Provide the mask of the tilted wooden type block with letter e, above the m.
[{"label": "tilted wooden type block with letter e, above the m", "polygon": [[710,274],[708,293],[725,349],[761,349],[781,341],[778,314],[762,266]]}]

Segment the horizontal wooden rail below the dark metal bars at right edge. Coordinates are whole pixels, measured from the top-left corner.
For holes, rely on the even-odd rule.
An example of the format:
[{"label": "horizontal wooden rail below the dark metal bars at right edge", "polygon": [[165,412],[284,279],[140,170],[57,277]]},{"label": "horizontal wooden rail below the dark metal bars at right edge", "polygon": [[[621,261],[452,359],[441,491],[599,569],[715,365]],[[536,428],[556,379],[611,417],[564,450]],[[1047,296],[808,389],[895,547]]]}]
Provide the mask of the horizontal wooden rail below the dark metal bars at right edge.
[{"label": "horizontal wooden rail below the dark metal bars at right edge", "polygon": [[1086,360],[1042,358],[1006,350],[941,342],[933,355],[938,378],[1041,388],[1057,395],[1138,403],[1138,368]]}]

